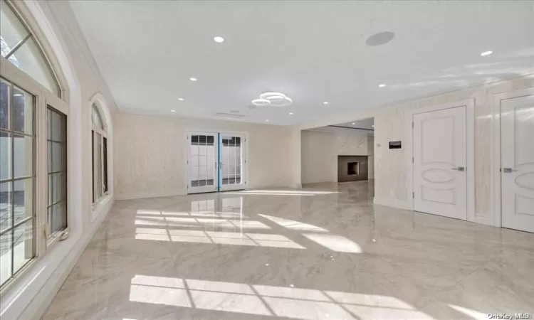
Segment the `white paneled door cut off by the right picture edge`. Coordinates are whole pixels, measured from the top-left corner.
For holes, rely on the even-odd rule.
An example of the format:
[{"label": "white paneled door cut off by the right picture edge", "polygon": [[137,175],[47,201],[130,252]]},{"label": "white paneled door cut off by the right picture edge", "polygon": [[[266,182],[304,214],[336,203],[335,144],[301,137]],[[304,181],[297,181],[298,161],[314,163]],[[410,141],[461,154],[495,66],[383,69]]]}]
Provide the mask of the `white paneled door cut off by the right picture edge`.
[{"label": "white paneled door cut off by the right picture edge", "polygon": [[534,233],[534,95],[501,101],[504,228]]}]

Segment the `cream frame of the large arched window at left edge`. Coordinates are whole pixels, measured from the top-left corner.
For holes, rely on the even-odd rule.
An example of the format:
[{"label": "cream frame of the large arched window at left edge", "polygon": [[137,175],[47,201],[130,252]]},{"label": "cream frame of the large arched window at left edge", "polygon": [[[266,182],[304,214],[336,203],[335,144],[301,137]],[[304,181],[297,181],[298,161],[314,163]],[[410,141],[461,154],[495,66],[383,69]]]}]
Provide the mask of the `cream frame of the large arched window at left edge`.
[{"label": "cream frame of the large arched window at left edge", "polygon": [[[23,70],[20,70],[15,65],[9,62],[4,57],[0,57],[0,75],[5,80],[13,83],[17,87],[26,90],[31,95],[35,97],[34,102],[34,112],[33,112],[33,252],[34,257],[32,260],[28,261],[26,265],[21,267],[20,270],[7,280],[0,289],[0,297],[4,297],[6,292],[9,292],[11,287],[14,287],[19,280],[21,280],[25,274],[31,270],[31,267],[36,265],[47,252],[50,252],[53,247],[56,247],[60,240],[64,238],[62,235],[68,235],[70,232],[70,207],[72,201],[69,201],[71,194],[71,180],[72,175],[67,174],[67,228],[58,232],[51,237],[47,235],[48,227],[47,223],[47,213],[48,213],[48,143],[47,143],[47,134],[48,126],[46,122],[46,114],[48,110],[48,105],[54,109],[62,112],[67,117],[67,125],[69,123],[69,106],[67,102],[63,99],[68,97],[68,92],[63,90],[63,83],[65,80],[59,77],[52,68],[51,60],[48,55],[46,55],[44,46],[41,43],[40,39],[43,36],[41,31],[34,30],[36,24],[33,21],[27,21],[25,16],[21,14],[24,12],[28,14],[27,9],[19,3],[19,1],[6,0],[6,3],[9,6],[9,9],[14,11],[16,16],[19,18],[23,26],[26,27],[26,30],[31,35],[31,38],[35,41],[36,45],[41,51],[43,58],[46,61],[47,67],[51,71],[53,78],[58,85],[58,92],[51,92],[48,88],[41,85],[40,82],[31,78]],[[48,48],[48,47],[46,47]],[[61,95],[61,96],[58,96]],[[63,98],[63,99],[62,99]],[[67,129],[67,144],[70,142],[69,129]],[[70,172],[70,157],[66,157],[67,173]]]}]

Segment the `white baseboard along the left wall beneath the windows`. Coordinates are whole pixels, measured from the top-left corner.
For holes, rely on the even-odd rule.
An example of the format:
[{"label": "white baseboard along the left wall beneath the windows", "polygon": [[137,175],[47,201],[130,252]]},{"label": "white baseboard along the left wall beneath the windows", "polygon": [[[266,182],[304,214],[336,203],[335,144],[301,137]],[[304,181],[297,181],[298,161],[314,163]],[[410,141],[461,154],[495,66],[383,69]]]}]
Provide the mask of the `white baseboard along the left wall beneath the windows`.
[{"label": "white baseboard along the left wall beneath the windows", "polygon": [[[40,264],[34,266],[36,274],[28,274],[28,284],[19,292],[16,292],[6,309],[2,310],[2,319],[4,319],[4,316],[6,316],[6,319],[41,319],[53,298],[56,297],[63,282],[67,279],[68,274],[78,262],[83,250],[85,250],[96,230],[98,230],[98,227],[110,212],[113,202],[113,199],[111,199],[106,203],[102,213],[95,218],[95,221],[90,224],[88,229],[83,230],[85,232],[78,235],[78,239],[73,239],[73,244],[70,247],[57,247],[57,252],[50,252],[48,257],[43,257]],[[57,256],[61,257],[63,252],[66,252],[66,255],[58,259]],[[47,277],[47,279],[39,281],[38,277]],[[19,302],[16,300],[19,300]]]}]

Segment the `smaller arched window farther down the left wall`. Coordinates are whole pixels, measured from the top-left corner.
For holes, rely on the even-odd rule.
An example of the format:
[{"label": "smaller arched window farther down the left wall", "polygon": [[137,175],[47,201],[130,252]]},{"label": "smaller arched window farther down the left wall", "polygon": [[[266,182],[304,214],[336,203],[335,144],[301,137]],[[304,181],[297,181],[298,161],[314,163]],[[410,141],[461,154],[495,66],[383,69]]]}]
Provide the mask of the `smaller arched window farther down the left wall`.
[{"label": "smaller arched window farther down the left wall", "polygon": [[93,203],[108,192],[108,133],[98,106],[93,103]]}]

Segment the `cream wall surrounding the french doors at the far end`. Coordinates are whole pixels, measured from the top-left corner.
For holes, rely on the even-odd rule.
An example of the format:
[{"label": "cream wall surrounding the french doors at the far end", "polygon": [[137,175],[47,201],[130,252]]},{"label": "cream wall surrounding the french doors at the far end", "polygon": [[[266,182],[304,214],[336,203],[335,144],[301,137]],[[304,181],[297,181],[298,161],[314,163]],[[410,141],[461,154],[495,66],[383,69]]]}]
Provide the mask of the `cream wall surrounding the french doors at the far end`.
[{"label": "cream wall surrounding the french doors at the far end", "polygon": [[289,127],[116,114],[115,196],[186,194],[186,135],[203,130],[248,133],[248,188],[292,185]]}]

